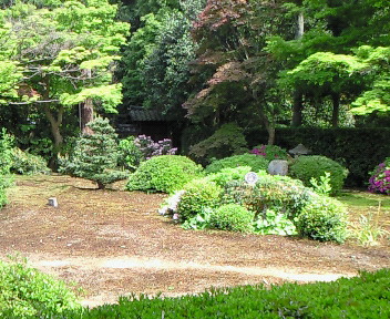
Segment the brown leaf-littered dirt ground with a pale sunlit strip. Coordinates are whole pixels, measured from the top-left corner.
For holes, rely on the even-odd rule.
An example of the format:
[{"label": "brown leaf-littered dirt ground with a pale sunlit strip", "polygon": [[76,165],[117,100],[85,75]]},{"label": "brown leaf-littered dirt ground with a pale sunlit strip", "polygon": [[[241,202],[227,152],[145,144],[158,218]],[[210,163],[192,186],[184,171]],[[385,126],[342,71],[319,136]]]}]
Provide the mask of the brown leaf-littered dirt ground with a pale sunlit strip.
[{"label": "brown leaf-littered dirt ground with a pale sunlit strip", "polygon": [[[166,195],[96,191],[66,176],[18,177],[0,212],[0,258],[74,282],[83,305],[135,294],[178,296],[211,287],[308,282],[390,267],[390,247],[283,236],[184,230],[157,208]],[[55,196],[59,207],[48,206]]]}]

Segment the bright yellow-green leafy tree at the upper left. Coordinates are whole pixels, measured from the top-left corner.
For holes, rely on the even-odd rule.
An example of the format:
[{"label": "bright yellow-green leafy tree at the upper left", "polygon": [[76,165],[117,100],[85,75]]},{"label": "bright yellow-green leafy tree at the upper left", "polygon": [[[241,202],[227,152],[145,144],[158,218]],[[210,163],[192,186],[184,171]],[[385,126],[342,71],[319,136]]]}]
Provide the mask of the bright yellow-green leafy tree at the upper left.
[{"label": "bright yellow-green leafy tree at the upper left", "polygon": [[41,9],[17,2],[0,12],[0,52],[23,75],[19,96],[12,92],[7,103],[34,105],[49,121],[57,150],[64,117],[75,105],[92,101],[98,110],[115,112],[121,102],[112,73],[129,24],[116,22],[115,14],[116,7],[106,0],[61,1]]}]

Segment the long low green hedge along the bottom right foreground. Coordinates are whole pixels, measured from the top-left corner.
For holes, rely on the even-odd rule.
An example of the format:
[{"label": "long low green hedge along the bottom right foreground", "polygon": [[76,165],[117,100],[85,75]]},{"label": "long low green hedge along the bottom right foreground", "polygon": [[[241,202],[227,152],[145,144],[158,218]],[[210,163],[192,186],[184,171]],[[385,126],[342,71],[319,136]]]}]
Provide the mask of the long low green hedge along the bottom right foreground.
[{"label": "long low green hedge along the bottom right foreground", "polygon": [[351,279],[265,289],[245,286],[178,298],[121,298],[119,305],[57,318],[390,318],[390,269]]}]

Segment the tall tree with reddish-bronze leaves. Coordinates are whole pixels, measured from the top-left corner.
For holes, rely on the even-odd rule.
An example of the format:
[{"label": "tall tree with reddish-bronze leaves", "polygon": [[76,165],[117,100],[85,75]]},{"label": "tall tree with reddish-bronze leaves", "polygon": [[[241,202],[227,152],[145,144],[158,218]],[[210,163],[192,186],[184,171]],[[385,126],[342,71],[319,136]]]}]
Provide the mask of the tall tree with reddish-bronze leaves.
[{"label": "tall tree with reddish-bronze leaves", "polygon": [[280,65],[264,49],[268,35],[288,25],[279,2],[207,1],[193,29],[199,45],[193,63],[198,91],[183,105],[187,117],[207,125],[257,119],[274,143],[283,105],[274,80]]}]

